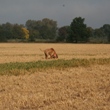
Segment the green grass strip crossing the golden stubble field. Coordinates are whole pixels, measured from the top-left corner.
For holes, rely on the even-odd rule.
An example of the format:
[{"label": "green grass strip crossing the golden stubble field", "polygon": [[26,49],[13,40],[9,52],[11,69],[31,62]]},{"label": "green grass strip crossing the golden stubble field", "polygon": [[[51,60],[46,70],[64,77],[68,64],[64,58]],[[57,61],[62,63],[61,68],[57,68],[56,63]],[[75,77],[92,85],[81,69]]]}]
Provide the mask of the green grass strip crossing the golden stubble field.
[{"label": "green grass strip crossing the golden stubble field", "polygon": [[16,75],[20,74],[20,71],[30,71],[35,69],[46,70],[46,69],[63,69],[68,67],[78,66],[90,66],[94,64],[104,65],[110,64],[110,58],[99,58],[99,59],[71,59],[71,60],[47,60],[47,61],[36,61],[36,62],[16,62],[16,63],[5,63],[0,64],[0,75]]}]

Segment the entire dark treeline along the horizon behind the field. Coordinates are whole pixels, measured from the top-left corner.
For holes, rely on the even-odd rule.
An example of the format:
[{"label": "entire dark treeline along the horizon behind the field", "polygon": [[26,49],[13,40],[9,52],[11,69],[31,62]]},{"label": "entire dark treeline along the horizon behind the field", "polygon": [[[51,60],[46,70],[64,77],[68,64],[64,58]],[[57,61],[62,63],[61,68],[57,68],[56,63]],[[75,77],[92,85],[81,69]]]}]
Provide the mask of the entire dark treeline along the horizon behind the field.
[{"label": "entire dark treeline along the horizon behind the field", "polygon": [[110,43],[110,24],[93,29],[84,21],[76,17],[70,25],[60,28],[57,21],[48,18],[27,20],[25,25],[0,24],[0,42]]}]

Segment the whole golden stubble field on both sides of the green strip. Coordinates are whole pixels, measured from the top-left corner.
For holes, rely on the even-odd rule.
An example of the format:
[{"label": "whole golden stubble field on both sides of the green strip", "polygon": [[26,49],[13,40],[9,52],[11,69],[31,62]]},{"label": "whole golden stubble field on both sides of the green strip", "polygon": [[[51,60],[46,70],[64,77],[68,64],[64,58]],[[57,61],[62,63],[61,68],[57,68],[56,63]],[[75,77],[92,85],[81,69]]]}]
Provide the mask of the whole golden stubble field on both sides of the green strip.
[{"label": "whole golden stubble field on both sides of the green strip", "polygon": [[[1,43],[0,63],[44,59],[53,47],[59,59],[110,58],[109,44]],[[25,71],[0,76],[0,110],[110,110],[110,65]]]}]

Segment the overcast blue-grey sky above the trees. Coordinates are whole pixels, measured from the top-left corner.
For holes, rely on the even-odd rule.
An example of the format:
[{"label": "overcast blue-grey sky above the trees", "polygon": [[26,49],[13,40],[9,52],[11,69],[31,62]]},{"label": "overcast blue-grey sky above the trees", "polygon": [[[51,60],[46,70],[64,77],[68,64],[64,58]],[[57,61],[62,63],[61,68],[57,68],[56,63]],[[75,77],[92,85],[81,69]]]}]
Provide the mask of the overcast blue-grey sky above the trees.
[{"label": "overcast blue-grey sky above the trees", "polygon": [[62,27],[76,17],[92,28],[110,24],[110,0],[0,0],[0,24],[49,18]]}]

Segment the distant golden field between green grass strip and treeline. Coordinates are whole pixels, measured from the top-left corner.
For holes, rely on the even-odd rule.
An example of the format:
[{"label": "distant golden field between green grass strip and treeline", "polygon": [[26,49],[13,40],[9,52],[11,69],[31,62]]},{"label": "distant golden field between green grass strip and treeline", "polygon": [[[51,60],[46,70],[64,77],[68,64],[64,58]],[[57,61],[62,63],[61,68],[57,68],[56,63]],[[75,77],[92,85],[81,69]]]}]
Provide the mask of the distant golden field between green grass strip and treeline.
[{"label": "distant golden field between green grass strip and treeline", "polygon": [[0,63],[30,62],[44,60],[41,49],[53,47],[59,59],[109,58],[109,44],[43,44],[43,43],[1,43]]}]

